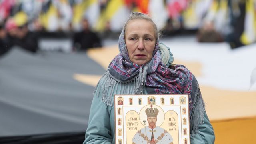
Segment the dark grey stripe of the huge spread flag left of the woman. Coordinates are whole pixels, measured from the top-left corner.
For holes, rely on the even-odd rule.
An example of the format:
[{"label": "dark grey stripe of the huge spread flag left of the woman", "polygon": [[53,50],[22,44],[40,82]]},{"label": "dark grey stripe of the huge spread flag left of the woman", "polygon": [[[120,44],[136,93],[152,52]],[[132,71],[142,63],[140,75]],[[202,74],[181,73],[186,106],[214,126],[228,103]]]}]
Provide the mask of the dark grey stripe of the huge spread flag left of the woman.
[{"label": "dark grey stripe of the huge spread flag left of the woman", "polygon": [[94,87],[73,75],[103,72],[85,53],[13,49],[0,59],[0,136],[85,131]]}]

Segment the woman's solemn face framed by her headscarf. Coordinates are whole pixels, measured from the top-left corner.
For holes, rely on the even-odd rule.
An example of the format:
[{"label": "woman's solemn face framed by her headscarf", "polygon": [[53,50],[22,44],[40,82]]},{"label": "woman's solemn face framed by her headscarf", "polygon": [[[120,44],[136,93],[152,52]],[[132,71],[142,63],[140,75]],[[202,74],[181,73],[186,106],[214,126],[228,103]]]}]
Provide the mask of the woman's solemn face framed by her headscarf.
[{"label": "woman's solemn face framed by her headscarf", "polygon": [[150,61],[156,44],[151,22],[144,19],[131,20],[126,26],[125,43],[131,62],[142,65]]}]

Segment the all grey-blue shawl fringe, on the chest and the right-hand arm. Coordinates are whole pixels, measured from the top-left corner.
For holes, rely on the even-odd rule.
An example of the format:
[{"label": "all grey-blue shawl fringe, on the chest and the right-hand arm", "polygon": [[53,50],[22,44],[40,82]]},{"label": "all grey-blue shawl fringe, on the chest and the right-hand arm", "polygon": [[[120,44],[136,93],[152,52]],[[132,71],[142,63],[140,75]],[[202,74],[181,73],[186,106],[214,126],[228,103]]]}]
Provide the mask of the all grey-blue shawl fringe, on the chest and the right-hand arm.
[{"label": "all grey-blue shawl fringe, on the chest and the right-hand arm", "polygon": [[[101,96],[102,101],[108,106],[113,106],[115,94],[120,95],[133,95],[143,94],[144,83],[146,81],[146,75],[148,70],[148,64],[141,66],[138,76],[128,81],[121,81],[116,79],[109,73],[109,70],[102,76],[98,82],[93,94],[94,96]],[[120,88],[118,88],[120,85]],[[119,90],[118,90],[119,89]],[[196,90],[193,110],[190,112],[190,134],[194,136],[198,134],[198,128],[200,124],[204,123],[205,104],[202,98],[199,86]]]}]

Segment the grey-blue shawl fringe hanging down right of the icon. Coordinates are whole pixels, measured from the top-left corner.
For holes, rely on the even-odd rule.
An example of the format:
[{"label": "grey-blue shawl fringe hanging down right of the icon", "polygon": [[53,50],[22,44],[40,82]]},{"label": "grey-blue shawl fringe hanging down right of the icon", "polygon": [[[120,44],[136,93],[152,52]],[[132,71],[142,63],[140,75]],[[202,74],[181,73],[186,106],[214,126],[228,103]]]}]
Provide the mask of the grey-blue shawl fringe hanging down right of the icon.
[{"label": "grey-blue shawl fringe hanging down right of the icon", "polygon": [[200,89],[198,88],[193,104],[193,110],[190,112],[190,134],[198,134],[200,124],[204,123],[205,104]]}]

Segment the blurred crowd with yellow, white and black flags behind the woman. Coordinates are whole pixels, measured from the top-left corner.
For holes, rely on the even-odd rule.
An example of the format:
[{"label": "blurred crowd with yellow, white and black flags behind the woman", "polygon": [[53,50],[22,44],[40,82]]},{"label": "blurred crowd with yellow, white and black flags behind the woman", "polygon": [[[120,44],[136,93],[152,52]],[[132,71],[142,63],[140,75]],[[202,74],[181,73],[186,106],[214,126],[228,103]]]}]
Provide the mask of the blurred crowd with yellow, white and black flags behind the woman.
[{"label": "blurred crowd with yellow, white and black flags behind the woman", "polygon": [[99,47],[132,11],[150,14],[163,35],[193,30],[198,42],[225,41],[231,48],[256,41],[254,0],[119,1],[0,0],[0,53],[14,45],[36,52],[42,36],[67,36],[74,50]]}]

